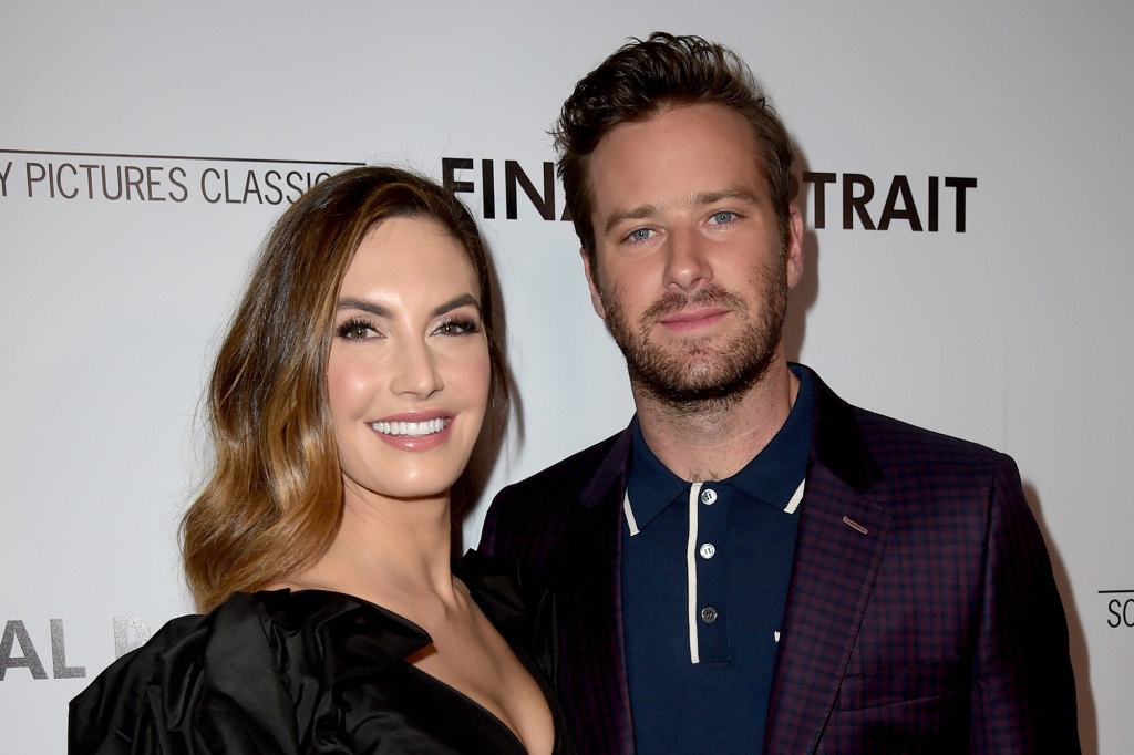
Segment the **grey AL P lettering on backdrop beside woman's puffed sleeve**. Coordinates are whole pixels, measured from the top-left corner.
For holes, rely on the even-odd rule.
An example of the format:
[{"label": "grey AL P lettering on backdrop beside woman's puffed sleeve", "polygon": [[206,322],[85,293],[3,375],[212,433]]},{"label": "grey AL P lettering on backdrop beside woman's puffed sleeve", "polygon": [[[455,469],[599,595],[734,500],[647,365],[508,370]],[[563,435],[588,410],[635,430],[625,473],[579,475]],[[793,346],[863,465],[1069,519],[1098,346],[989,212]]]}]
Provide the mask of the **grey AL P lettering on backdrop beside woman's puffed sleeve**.
[{"label": "grey AL P lettering on backdrop beside woman's puffed sleeve", "polygon": [[[46,627],[42,626],[44,623]],[[48,627],[44,636],[42,630]],[[150,626],[137,617],[116,616],[112,621],[112,634],[115,658],[121,658],[150,639]],[[46,654],[49,646],[50,655]],[[48,622],[34,621],[31,631],[20,619],[5,623],[3,636],[0,637],[0,681],[9,678],[9,671],[19,669],[26,670],[26,675],[14,671],[11,678],[48,679],[44,659],[51,661],[51,679],[86,677],[85,665],[71,665],[67,660],[67,637],[62,619],[51,619]]]}]

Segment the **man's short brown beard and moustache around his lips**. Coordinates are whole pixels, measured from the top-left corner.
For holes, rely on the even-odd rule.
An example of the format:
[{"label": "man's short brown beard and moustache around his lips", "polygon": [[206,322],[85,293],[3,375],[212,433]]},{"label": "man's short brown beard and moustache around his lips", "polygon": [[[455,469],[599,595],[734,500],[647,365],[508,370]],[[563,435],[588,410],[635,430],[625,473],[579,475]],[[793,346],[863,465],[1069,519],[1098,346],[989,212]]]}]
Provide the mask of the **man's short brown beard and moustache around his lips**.
[{"label": "man's short brown beard and moustache around his lips", "polygon": [[[775,358],[787,312],[787,281],[782,255],[752,271],[750,282],[762,295],[751,311],[737,294],[709,283],[696,294],[671,291],[646,307],[636,326],[627,322],[617,295],[603,290],[607,329],[623,356],[631,384],[683,414],[727,409],[739,401],[768,372]],[[739,320],[731,336],[693,337],[660,346],[651,330],[674,312],[689,306],[719,306]]]}]

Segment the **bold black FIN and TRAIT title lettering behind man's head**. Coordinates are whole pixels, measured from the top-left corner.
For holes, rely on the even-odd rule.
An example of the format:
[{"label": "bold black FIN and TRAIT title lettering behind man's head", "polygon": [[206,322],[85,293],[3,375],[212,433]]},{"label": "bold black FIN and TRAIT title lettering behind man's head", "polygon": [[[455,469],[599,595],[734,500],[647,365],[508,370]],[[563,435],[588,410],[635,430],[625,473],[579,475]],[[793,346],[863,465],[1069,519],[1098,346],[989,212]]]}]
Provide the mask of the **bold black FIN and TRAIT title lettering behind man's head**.
[{"label": "bold black FIN and TRAIT title lettering behind man's head", "polygon": [[[531,166],[525,170],[517,160],[499,162],[502,167],[497,160],[441,158],[441,181],[454,194],[479,196],[485,220],[500,214],[501,187],[505,220],[518,220],[522,204],[525,218],[570,220],[566,203],[557,194],[561,187],[555,163],[543,162],[539,170]],[[812,193],[811,224],[816,230],[830,222],[843,230],[964,234],[970,190],[976,188],[975,178],[962,176],[872,177],[804,171],[802,178],[803,190]],[[799,183],[794,177],[792,183],[792,195],[797,197]]]}]

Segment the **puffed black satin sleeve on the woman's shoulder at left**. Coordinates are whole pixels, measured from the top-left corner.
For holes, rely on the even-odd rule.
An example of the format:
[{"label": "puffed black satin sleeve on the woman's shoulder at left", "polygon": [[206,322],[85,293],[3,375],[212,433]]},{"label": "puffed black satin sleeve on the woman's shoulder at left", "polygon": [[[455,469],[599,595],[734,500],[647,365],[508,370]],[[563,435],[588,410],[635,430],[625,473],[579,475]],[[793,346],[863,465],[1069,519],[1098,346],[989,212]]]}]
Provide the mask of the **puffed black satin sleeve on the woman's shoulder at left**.
[{"label": "puffed black satin sleeve on the woman's shoulder at left", "polygon": [[73,699],[70,752],[161,752],[169,739],[196,741],[185,752],[294,752],[311,713],[297,709],[304,697],[429,643],[420,627],[349,595],[236,593],[169,621]]}]

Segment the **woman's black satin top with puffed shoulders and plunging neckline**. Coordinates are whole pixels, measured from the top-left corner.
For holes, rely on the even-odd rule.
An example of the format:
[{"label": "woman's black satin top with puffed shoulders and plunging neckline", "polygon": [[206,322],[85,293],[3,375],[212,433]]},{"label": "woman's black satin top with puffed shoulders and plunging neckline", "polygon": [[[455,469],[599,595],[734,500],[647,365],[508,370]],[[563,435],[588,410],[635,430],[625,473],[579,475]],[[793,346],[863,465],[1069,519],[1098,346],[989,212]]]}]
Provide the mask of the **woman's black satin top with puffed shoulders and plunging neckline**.
[{"label": "woman's black satin top with puffed shoulders and plunging neckline", "polygon": [[[549,685],[550,595],[511,562],[473,551],[454,574],[543,689],[555,755],[574,753]],[[73,699],[68,752],[524,755],[502,721],[406,662],[431,642],[349,595],[237,593],[210,613],[174,619]]]}]

